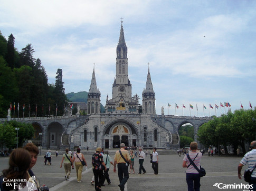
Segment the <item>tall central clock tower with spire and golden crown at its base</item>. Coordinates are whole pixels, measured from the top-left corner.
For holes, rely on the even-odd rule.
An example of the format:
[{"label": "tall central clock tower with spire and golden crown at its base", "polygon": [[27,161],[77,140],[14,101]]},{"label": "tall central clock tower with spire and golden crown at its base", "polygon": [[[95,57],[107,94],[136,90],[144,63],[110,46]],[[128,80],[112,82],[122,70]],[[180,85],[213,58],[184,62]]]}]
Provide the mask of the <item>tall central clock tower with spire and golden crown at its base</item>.
[{"label": "tall central clock tower with spire and golden crown at its base", "polygon": [[116,77],[112,86],[112,99],[106,100],[106,113],[138,113],[138,98],[131,97],[131,83],[128,78],[127,46],[124,29],[120,30],[117,44]]}]

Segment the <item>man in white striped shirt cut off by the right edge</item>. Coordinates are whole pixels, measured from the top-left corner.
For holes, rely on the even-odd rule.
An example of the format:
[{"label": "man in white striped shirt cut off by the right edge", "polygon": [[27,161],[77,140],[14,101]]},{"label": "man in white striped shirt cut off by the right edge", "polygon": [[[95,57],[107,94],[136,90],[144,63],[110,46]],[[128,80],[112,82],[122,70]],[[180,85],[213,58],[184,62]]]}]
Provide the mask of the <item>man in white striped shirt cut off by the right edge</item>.
[{"label": "man in white striped shirt cut off by the right edge", "polygon": [[250,190],[255,191],[256,190],[256,168],[255,168],[255,166],[256,166],[256,140],[253,140],[253,142],[251,142],[250,147],[252,148],[252,150],[244,155],[244,157],[242,158],[241,162],[238,165],[238,178],[242,179],[241,178],[241,176],[242,176],[241,170],[244,165],[248,164],[248,169],[252,171],[251,181],[249,182],[249,185],[253,185],[253,188],[250,188]]}]

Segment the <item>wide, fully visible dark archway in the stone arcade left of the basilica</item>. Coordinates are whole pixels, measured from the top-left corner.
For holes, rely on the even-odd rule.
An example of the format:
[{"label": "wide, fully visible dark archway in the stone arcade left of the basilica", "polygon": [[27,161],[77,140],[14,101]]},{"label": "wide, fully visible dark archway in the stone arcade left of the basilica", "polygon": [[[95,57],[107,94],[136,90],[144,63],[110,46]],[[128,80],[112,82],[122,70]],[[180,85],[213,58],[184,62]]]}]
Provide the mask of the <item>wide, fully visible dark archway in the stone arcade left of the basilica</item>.
[{"label": "wide, fully visible dark archway in the stone arcade left of the basilica", "polygon": [[46,147],[57,149],[60,148],[63,126],[58,122],[52,122],[47,127],[46,132]]}]

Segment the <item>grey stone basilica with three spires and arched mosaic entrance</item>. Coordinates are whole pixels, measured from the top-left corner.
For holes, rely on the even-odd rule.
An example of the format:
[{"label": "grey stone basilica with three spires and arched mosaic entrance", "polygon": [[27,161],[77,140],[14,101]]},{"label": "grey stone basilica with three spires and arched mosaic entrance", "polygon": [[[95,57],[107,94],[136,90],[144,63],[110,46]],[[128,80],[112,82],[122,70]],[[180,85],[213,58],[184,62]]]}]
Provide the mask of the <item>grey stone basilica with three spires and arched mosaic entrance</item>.
[{"label": "grey stone basilica with three spires and arched mosaic entrance", "polygon": [[[139,113],[137,94],[131,95],[128,76],[128,49],[124,28],[121,23],[120,36],[116,49],[116,77],[112,85],[112,98],[106,98],[106,113],[100,113],[101,94],[96,83],[96,72],[92,72],[87,100],[88,119],[68,133],[74,147],[89,148],[143,146],[166,148],[178,144],[175,125],[156,115],[156,99],[148,67],[146,87],[142,93],[142,113]],[[146,77],[146,76],[145,76]]]}]

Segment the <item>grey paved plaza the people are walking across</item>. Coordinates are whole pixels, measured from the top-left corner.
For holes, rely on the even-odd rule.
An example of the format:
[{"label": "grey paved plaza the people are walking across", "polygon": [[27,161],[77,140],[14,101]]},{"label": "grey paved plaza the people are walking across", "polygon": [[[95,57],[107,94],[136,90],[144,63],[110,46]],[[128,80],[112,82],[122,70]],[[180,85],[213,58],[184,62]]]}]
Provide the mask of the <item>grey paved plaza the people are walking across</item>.
[{"label": "grey paved plaza the people are walking across", "polygon": [[[52,165],[44,165],[43,155],[39,156],[36,165],[33,167],[33,172],[40,179],[40,185],[47,185],[51,191],[54,190],[94,190],[91,185],[93,176],[91,165],[88,165],[88,170],[83,168],[82,182],[77,183],[75,169],[72,169],[71,178],[66,181],[64,178],[64,168],[60,168],[62,154],[59,152],[59,157],[52,157]],[[90,164],[91,152],[82,152]],[[111,152],[113,153],[113,152]],[[159,152],[160,153],[160,152]],[[52,152],[52,154],[55,154]],[[90,154],[90,155],[89,155]],[[113,159],[113,155],[110,155]],[[145,157],[144,167],[146,174],[138,175],[139,162],[138,157],[135,158],[136,174],[129,175],[125,190],[187,190],[185,168],[182,168],[183,157],[177,154],[160,155],[159,154],[159,173],[153,175],[151,168],[150,156]],[[204,155],[201,160],[201,165],[206,170],[206,176],[201,178],[201,190],[220,190],[213,186],[215,183],[223,184],[245,184],[244,180],[238,179],[237,168],[242,156],[213,156]],[[0,170],[8,167],[8,157],[0,157]],[[244,166],[242,172],[247,166]],[[118,173],[113,173],[113,166],[110,166],[109,176],[111,184],[105,182],[105,187],[102,190],[119,190]],[[225,190],[243,190],[243,189],[225,189]]]}]

